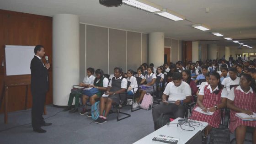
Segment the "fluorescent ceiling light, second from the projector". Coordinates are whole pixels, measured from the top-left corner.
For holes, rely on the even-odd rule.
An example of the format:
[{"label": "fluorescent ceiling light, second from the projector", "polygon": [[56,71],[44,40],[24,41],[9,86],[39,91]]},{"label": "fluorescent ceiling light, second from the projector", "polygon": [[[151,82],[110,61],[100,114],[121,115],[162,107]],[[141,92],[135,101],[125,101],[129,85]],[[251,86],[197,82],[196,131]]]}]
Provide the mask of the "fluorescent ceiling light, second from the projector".
[{"label": "fluorescent ceiling light, second from the projector", "polygon": [[166,9],[163,9],[163,11],[157,11],[157,12],[155,12],[155,14],[159,15],[159,16],[163,16],[163,17],[168,18],[173,21],[181,21],[181,20],[185,19],[185,17],[183,17],[179,14],[176,14],[173,11],[166,10]]}]

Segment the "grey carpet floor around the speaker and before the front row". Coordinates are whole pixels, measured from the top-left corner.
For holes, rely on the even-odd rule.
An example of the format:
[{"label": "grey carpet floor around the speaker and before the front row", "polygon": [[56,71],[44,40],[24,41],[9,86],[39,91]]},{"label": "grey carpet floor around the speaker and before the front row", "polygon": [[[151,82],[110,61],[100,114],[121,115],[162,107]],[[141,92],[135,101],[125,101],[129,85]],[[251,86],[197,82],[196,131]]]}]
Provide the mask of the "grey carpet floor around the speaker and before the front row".
[{"label": "grey carpet floor around the speaker and before the front row", "polygon": [[[116,113],[112,113],[103,124],[91,123],[90,117],[80,116],[78,112],[69,114],[62,110],[47,106],[47,115],[43,117],[48,117],[46,122],[53,123],[42,127],[47,133],[33,132],[31,124],[28,124],[31,122],[30,109],[10,112],[8,124],[4,124],[4,115],[1,114],[0,131],[11,129],[0,132],[0,144],[132,144],[154,131],[151,110],[131,112],[130,106],[123,107],[121,111],[130,113],[131,117],[117,122]],[[18,125],[23,126],[12,128]],[[231,134],[233,138],[234,134]],[[247,134],[246,138],[251,139],[251,135]]]}]

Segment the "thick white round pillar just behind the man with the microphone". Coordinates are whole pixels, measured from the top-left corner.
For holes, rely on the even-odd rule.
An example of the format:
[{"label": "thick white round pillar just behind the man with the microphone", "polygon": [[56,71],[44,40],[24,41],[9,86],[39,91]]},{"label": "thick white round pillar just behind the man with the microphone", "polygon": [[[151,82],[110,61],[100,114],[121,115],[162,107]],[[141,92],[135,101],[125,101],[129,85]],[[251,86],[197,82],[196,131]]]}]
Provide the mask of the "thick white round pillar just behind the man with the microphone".
[{"label": "thick white round pillar just behind the man with the microphone", "polygon": [[53,105],[66,106],[79,83],[79,17],[53,16]]}]

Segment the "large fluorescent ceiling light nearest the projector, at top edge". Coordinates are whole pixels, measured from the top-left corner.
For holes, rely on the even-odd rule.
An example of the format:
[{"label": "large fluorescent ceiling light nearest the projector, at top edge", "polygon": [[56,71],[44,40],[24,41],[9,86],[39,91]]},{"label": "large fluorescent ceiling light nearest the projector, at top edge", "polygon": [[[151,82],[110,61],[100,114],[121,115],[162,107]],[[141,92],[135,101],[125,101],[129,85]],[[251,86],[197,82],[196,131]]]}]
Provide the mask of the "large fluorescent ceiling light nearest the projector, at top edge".
[{"label": "large fluorescent ceiling light nearest the projector, at top edge", "polygon": [[139,0],[123,0],[123,4],[133,6],[135,8],[138,8],[144,11],[149,11],[149,12],[161,11],[159,8],[155,8],[151,5],[147,5],[146,3],[149,3],[149,2],[147,1],[140,2]]}]

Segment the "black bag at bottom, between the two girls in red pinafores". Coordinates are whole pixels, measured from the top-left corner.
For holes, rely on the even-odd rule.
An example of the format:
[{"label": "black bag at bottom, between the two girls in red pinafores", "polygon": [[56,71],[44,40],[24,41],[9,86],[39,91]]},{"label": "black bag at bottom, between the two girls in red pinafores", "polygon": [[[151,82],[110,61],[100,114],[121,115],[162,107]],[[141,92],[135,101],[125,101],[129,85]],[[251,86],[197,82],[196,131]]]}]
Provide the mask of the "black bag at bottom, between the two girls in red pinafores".
[{"label": "black bag at bottom, between the two girls in red pinafores", "polygon": [[229,128],[219,125],[219,128],[213,128],[210,134],[210,144],[230,144]]}]

